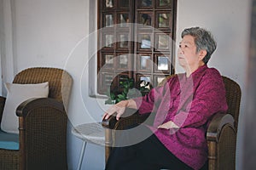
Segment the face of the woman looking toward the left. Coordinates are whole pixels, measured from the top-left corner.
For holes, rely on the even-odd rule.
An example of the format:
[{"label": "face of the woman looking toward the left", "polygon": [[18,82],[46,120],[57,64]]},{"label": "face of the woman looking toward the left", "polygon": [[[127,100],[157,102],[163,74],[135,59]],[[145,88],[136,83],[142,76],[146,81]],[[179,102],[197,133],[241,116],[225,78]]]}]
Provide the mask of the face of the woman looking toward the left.
[{"label": "face of the woman looking toward the left", "polygon": [[[204,56],[203,56],[204,57]],[[179,43],[179,49],[177,52],[177,59],[179,65],[181,65],[186,71],[195,71],[201,65],[203,65],[202,51],[196,53],[195,38],[186,35]]]}]

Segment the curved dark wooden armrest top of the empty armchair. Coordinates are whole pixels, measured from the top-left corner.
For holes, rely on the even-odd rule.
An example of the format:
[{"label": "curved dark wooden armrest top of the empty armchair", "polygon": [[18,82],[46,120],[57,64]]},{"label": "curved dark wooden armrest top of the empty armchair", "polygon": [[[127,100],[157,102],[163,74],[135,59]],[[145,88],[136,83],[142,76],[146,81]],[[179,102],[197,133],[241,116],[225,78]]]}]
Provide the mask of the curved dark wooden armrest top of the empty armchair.
[{"label": "curved dark wooden armrest top of the empty armchair", "polygon": [[58,111],[65,111],[64,105],[51,98],[32,98],[22,102],[16,109],[17,116],[26,117],[27,113],[40,107],[53,108]]}]

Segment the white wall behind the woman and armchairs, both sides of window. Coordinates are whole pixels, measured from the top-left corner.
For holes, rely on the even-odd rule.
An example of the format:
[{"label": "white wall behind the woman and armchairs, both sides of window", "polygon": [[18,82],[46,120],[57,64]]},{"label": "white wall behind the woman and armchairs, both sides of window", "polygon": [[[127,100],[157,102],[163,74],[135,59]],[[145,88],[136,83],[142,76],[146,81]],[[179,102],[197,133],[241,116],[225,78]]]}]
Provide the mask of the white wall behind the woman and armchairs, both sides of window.
[{"label": "white wall behind the woman and armchairs, both sides of window", "polygon": [[[12,2],[10,29],[13,30],[11,36],[13,36],[15,68],[2,65],[2,70],[3,66],[15,73],[31,66],[67,69],[74,79],[68,110],[69,127],[84,122],[101,121],[103,100],[90,98],[88,92],[88,82],[93,81],[88,77],[88,62],[93,57],[93,44],[96,43],[88,36],[96,29],[96,1],[3,1]],[[177,42],[180,41],[180,33],[185,27],[202,26],[212,31],[218,42],[218,48],[209,65],[218,68],[223,75],[236,80],[241,85],[242,92],[245,88],[249,7],[250,0],[178,0],[177,5]],[[4,24],[10,25],[10,23]],[[9,41],[11,40],[5,42]],[[90,48],[88,48],[89,44]],[[8,56],[5,56],[5,59],[8,60]],[[177,67],[177,71],[181,70]],[[10,78],[9,75],[3,76]],[[241,117],[243,105],[242,100]],[[240,123],[237,169],[241,169],[241,127]],[[80,147],[81,141],[69,132],[70,169],[75,169],[77,166]],[[87,149],[83,167],[103,169],[104,147],[89,144]]]}]

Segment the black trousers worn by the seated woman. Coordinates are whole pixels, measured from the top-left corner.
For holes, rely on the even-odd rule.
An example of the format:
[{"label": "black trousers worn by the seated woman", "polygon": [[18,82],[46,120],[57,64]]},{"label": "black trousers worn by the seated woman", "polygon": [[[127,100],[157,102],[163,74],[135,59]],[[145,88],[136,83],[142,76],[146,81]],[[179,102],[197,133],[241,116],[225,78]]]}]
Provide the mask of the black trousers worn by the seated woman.
[{"label": "black trousers worn by the seated woman", "polygon": [[[143,127],[146,132],[151,133],[148,127]],[[145,133],[140,133],[140,136]],[[131,133],[120,136],[119,142],[131,139]],[[133,134],[134,137],[134,134]],[[108,162],[106,170],[158,170],[158,169],[175,169],[190,170],[192,169],[183,161],[166,149],[154,134],[149,135],[147,139],[137,144],[124,147],[114,147]]]}]

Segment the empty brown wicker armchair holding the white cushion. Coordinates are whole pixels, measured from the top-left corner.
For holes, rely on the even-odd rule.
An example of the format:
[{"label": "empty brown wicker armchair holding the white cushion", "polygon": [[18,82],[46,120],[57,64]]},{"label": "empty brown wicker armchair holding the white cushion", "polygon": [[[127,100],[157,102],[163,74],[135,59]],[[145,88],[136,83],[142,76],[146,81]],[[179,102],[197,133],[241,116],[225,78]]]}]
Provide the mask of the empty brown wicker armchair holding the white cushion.
[{"label": "empty brown wicker armchair holding the white cushion", "polygon": [[[49,82],[49,97],[28,99],[16,110],[19,150],[0,149],[0,169],[67,169],[67,105],[72,77],[57,68],[29,68],[14,83]],[[0,97],[0,118],[5,98]]]}]

